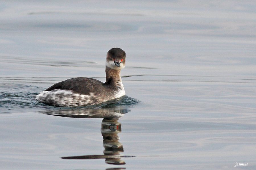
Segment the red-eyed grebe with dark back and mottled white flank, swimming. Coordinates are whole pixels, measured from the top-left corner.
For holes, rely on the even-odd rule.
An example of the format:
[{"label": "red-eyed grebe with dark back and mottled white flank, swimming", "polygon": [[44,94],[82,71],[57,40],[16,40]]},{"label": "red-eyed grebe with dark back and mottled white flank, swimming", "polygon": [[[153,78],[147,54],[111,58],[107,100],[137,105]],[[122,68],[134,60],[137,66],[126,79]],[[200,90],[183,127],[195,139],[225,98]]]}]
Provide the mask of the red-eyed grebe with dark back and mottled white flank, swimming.
[{"label": "red-eyed grebe with dark back and mottled white flank, swimming", "polygon": [[121,69],[125,67],[125,51],[112,48],[106,57],[106,82],[77,77],[58,82],[36,96],[36,100],[53,106],[77,107],[96,105],[125,95]]}]

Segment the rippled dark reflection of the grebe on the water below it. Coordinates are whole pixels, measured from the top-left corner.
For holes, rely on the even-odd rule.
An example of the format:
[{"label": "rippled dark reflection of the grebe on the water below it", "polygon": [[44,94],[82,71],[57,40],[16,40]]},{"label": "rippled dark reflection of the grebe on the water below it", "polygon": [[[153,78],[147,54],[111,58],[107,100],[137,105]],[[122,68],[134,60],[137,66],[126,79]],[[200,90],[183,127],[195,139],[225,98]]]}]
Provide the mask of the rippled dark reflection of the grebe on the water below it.
[{"label": "rippled dark reflection of the grebe on the water below it", "polygon": [[123,145],[119,142],[118,133],[121,132],[121,123],[118,122],[125,113],[130,112],[129,109],[118,106],[106,109],[59,109],[43,112],[54,116],[73,117],[73,118],[103,118],[101,123],[101,134],[103,137],[104,155],[83,155],[83,156],[67,156],[62,159],[105,159],[108,164],[124,165],[124,157],[121,153]]}]

